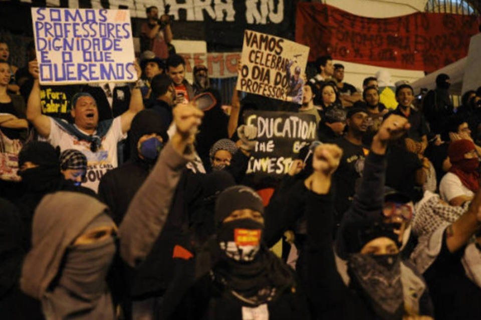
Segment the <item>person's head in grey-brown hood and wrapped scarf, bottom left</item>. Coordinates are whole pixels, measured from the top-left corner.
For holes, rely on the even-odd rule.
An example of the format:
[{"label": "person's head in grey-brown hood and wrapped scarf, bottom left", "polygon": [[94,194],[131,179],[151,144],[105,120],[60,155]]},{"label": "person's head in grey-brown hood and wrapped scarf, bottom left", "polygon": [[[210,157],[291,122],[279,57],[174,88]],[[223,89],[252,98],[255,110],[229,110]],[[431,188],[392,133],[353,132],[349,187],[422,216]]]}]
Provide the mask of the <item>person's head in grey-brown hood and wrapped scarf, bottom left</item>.
[{"label": "person's head in grey-brown hood and wrapped scarf, bottom left", "polygon": [[41,300],[46,319],[115,319],[106,276],[116,226],[107,209],[94,197],[60,191],[35,211],[21,287]]}]

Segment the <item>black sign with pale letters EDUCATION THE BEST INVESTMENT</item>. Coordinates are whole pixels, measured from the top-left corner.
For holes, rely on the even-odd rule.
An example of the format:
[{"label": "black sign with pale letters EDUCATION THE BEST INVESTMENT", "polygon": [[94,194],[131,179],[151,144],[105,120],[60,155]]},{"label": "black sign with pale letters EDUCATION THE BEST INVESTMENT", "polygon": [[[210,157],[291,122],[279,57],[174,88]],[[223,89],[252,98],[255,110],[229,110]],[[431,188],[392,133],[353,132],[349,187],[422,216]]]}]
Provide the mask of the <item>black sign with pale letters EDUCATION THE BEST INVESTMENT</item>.
[{"label": "black sign with pale letters EDUCATION THE BEST INVESTMENT", "polygon": [[282,177],[299,150],[317,139],[317,123],[312,114],[248,110],[244,120],[257,127],[258,141],[246,173],[260,178]]}]

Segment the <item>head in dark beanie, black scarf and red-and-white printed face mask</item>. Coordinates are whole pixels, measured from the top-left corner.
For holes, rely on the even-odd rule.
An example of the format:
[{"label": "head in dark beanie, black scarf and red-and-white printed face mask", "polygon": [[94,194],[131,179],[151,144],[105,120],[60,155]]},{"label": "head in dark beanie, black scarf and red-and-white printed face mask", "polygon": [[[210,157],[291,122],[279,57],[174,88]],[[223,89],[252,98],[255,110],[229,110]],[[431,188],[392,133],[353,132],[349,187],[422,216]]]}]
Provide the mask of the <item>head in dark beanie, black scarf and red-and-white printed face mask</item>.
[{"label": "head in dark beanie, black scarf and red-and-white printed face mask", "polygon": [[212,280],[243,305],[275,300],[295,284],[289,267],[262,244],[264,205],[250,187],[235,185],[215,202],[216,241],[220,260]]}]

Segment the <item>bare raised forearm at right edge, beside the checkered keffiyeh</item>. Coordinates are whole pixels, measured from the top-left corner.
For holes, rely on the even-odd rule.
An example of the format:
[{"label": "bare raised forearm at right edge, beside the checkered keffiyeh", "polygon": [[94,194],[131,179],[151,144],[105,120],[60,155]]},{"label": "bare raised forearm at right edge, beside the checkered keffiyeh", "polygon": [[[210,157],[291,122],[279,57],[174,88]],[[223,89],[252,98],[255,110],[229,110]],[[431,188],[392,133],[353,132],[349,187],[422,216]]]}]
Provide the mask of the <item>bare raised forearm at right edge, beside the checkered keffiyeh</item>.
[{"label": "bare raised forearm at right edge, beside the checkered keffiyeh", "polygon": [[467,243],[472,234],[479,229],[480,218],[481,191],[477,191],[467,211],[445,230],[449,252],[455,252]]}]

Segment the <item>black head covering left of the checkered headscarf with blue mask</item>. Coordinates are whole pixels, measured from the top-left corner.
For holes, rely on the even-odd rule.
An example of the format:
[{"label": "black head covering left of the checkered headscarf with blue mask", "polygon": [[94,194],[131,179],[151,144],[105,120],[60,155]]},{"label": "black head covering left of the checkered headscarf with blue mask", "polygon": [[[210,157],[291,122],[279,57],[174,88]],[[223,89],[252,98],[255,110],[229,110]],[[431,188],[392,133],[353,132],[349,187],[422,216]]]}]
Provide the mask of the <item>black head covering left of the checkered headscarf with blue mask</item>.
[{"label": "black head covering left of the checkered headscarf with blue mask", "polygon": [[25,144],[19,153],[19,168],[27,161],[38,166],[18,171],[26,189],[32,191],[52,190],[63,181],[59,151],[50,143],[32,141]]}]

